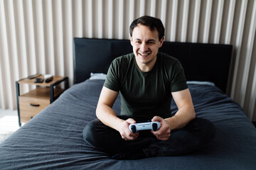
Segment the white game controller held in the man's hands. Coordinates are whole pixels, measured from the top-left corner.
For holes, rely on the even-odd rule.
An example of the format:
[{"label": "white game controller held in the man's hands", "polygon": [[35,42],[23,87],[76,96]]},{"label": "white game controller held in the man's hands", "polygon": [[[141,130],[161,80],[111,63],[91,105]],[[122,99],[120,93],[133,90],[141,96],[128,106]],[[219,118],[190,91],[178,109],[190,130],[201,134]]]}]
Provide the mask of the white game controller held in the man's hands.
[{"label": "white game controller held in the man's hands", "polygon": [[129,125],[129,129],[136,133],[139,130],[159,130],[161,124],[159,122],[134,123]]}]

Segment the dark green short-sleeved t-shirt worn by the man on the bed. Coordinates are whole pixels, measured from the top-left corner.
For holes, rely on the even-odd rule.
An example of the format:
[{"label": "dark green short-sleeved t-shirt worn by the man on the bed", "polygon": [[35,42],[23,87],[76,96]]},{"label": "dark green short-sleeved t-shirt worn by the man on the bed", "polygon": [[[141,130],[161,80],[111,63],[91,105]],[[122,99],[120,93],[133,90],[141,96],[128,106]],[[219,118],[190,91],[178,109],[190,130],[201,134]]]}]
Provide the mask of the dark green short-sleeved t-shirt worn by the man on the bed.
[{"label": "dark green short-sleeved t-shirt worn by the man on the bed", "polygon": [[161,52],[149,72],[139,69],[134,53],[117,57],[110,65],[104,86],[120,91],[120,115],[136,120],[151,120],[155,115],[171,117],[171,92],[188,88],[180,62]]}]

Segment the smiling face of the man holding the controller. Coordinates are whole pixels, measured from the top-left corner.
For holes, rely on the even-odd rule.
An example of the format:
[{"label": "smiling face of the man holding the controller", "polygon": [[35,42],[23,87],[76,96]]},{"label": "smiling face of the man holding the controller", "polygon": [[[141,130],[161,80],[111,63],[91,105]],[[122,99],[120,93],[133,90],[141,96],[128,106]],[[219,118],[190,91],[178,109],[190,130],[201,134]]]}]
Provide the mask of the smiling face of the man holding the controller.
[{"label": "smiling face of the man holding the controller", "polygon": [[130,39],[139,69],[143,72],[150,71],[156,63],[156,55],[164,38],[159,40],[156,29],[151,31],[149,27],[139,24],[132,31]]}]

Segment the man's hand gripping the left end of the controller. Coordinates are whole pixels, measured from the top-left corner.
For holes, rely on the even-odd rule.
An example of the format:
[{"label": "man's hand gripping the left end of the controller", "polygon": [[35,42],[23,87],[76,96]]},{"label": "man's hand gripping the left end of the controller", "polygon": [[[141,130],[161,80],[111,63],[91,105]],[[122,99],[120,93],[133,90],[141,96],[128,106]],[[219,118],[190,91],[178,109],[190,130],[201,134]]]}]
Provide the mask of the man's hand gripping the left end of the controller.
[{"label": "man's hand gripping the left end of the controller", "polygon": [[124,120],[122,123],[120,123],[118,131],[122,136],[122,139],[135,140],[137,137],[139,137],[139,132],[133,133],[131,130],[129,130],[129,125],[132,123],[136,123],[136,121],[132,118]]}]

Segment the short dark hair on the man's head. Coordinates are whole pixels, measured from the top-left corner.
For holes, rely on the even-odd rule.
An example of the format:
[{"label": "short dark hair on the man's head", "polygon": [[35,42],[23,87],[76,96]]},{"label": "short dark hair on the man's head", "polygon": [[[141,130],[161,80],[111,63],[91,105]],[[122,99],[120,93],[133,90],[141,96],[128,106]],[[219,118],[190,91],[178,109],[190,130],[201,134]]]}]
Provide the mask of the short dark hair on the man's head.
[{"label": "short dark hair on the man's head", "polygon": [[157,30],[159,33],[159,40],[164,37],[164,25],[161,22],[159,18],[154,18],[151,16],[142,16],[134,21],[132,21],[132,24],[129,28],[129,33],[132,36],[132,31],[135,27],[138,26],[138,24],[142,24],[143,26],[148,26],[151,31]]}]

